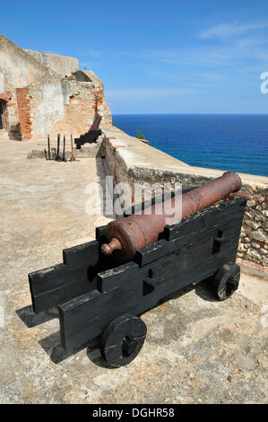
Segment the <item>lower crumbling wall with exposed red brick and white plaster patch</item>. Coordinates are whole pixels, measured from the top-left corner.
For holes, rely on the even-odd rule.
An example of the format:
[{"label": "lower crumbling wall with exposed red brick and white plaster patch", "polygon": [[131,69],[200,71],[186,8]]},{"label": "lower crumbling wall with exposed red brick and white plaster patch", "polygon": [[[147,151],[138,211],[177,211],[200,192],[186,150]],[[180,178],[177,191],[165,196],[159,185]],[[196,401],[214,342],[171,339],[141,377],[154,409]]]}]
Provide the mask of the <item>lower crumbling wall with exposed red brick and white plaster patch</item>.
[{"label": "lower crumbling wall with exposed red brick and white plaster patch", "polygon": [[102,84],[79,82],[71,76],[32,84],[17,93],[22,140],[57,133],[81,136],[90,129],[97,111],[102,116],[102,124],[111,124]]}]

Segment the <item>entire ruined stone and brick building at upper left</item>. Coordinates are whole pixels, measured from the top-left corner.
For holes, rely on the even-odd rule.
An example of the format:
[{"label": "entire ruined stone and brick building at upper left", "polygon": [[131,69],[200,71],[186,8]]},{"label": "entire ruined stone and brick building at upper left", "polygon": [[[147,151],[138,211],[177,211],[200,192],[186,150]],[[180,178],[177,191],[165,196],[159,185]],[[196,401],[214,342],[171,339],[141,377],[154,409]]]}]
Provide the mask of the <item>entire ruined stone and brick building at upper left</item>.
[{"label": "entire ruined stone and brick building at upper left", "polygon": [[96,113],[111,125],[104,88],[74,57],[22,49],[0,35],[0,129],[28,141],[86,133]]}]

